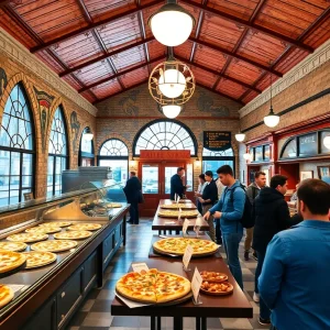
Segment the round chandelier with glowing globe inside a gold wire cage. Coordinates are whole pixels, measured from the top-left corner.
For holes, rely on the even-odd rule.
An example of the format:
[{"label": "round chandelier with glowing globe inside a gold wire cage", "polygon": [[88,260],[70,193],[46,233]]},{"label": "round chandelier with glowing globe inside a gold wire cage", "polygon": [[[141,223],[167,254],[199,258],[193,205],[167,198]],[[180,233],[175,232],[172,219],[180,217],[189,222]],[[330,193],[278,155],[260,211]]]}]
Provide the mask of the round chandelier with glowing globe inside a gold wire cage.
[{"label": "round chandelier with glowing globe inside a gold wire cage", "polygon": [[195,77],[190,68],[173,55],[158,64],[148,77],[148,91],[162,107],[186,103],[191,98],[195,87]]}]

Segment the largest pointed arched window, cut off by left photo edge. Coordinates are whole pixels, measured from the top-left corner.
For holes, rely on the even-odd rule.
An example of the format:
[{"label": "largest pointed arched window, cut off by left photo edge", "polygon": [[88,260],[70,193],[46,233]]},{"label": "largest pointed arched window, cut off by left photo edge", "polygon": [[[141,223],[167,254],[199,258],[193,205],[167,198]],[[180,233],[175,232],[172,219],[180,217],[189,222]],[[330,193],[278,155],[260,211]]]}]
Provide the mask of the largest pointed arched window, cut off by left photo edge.
[{"label": "largest pointed arched window, cut off by left photo edge", "polygon": [[0,130],[0,206],[24,201],[34,193],[34,128],[23,86],[18,84],[6,102]]}]

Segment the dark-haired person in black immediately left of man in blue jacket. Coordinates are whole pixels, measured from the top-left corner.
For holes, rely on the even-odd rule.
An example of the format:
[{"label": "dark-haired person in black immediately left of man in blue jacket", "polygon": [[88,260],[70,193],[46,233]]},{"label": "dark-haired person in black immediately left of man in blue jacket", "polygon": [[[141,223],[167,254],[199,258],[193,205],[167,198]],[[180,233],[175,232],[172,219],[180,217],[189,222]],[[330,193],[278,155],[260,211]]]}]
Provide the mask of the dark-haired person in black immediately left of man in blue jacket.
[{"label": "dark-haired person in black immediately left of man in blue jacket", "polygon": [[[202,206],[202,215],[207,213],[208,210],[215,205],[218,199],[218,188],[216,182],[213,180],[212,170],[207,170],[205,173],[205,179],[207,182],[206,187],[204,188],[201,197],[198,198],[199,202]],[[213,224],[213,217],[208,218],[209,224],[209,235],[213,242],[216,242],[216,231]]]}]

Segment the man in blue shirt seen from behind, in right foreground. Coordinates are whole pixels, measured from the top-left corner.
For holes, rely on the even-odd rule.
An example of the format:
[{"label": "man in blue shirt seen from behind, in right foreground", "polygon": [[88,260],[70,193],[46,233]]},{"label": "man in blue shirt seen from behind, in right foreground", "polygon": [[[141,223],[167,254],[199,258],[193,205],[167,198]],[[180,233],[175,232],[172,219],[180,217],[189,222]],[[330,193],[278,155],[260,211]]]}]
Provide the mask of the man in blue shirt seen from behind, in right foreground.
[{"label": "man in blue shirt seen from behind, in right foreground", "polygon": [[260,295],[278,330],[330,329],[330,186],[306,179],[298,188],[304,221],[267,246]]}]

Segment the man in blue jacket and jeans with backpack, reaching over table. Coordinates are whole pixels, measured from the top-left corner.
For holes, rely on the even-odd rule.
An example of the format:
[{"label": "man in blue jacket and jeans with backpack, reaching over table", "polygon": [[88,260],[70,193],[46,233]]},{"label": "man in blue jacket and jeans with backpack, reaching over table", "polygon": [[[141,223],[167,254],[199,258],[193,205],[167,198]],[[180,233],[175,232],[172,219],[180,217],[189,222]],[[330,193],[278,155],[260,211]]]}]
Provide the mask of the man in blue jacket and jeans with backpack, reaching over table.
[{"label": "man in blue jacket and jeans with backpack, reaching over table", "polygon": [[235,180],[232,168],[223,165],[217,170],[221,184],[227,188],[220,200],[205,216],[220,218],[222,242],[227,254],[229,270],[237,283],[243,289],[242,268],[239,260],[239,245],[243,237],[243,227],[240,222],[244,211],[245,193]]}]

